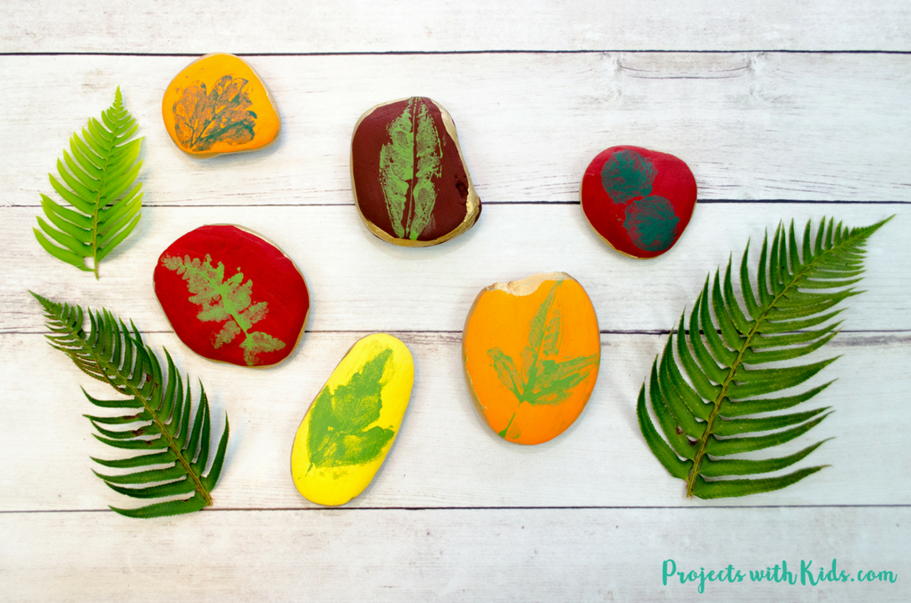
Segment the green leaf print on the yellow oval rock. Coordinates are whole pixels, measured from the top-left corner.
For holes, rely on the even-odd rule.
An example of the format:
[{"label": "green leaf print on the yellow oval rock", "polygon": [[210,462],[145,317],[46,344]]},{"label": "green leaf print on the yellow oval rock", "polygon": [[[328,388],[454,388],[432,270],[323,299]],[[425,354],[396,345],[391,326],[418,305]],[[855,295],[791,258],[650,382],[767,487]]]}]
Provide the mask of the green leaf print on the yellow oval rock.
[{"label": "green leaf print on the yellow oval rock", "polygon": [[383,408],[383,373],[393,351],[384,348],[364,363],[348,383],[326,385],[313,402],[307,449],[312,467],[364,465],[383,453],[392,429],[372,424]]}]

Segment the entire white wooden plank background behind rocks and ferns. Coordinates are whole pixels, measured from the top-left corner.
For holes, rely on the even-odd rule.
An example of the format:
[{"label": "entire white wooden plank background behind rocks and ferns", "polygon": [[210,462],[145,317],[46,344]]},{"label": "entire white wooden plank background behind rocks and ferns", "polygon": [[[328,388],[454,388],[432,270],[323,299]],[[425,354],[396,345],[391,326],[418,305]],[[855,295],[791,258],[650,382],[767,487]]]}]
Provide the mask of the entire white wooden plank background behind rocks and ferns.
[{"label": "entire white wooden plank background behind rocks and ferns", "polygon": [[[0,599],[5,601],[906,601],[911,598],[911,5],[743,0],[425,3],[51,0],[0,4]],[[256,68],[281,138],[196,160],[160,117],[169,80],[227,51]],[[41,250],[30,229],[67,138],[120,86],[146,137],[145,210],[101,280]],[[439,247],[374,239],[353,208],[348,145],[378,102],[435,98],[455,118],[484,203]],[[617,144],[673,153],[701,204],[669,253],[632,261],[578,207],[589,160]],[[779,220],[834,215],[871,240],[866,292],[817,398],[835,413],[790,450],[835,436],[783,491],[686,500],[650,454],[635,397],[667,330],[709,271]],[[170,330],[154,261],[205,223],[276,241],[311,287],[288,363],[209,363]],[[568,271],[602,328],[599,382],[545,445],[496,437],[460,365],[461,328],[494,281]],[[79,386],[104,391],[46,345],[27,294],[105,306],[206,384],[229,453],[215,506],[131,520],[91,473]],[[317,508],[295,490],[293,434],[345,350],[394,332],[415,394],[362,496]],[[820,357],[825,357],[821,354]],[[129,502],[129,501],[127,501]],[[662,584],[662,562],[744,573],[802,560],[895,583]]]}]

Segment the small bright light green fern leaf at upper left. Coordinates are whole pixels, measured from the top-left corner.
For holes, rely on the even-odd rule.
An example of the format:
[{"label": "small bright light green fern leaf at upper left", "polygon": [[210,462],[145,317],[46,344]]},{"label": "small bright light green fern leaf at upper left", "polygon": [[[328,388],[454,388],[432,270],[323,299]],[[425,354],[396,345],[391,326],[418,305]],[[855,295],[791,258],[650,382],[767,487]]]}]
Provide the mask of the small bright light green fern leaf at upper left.
[{"label": "small bright light green fern leaf at upper left", "polygon": [[139,221],[142,184],[134,182],[142,167],[142,138],[130,139],[137,128],[118,87],[114,104],[101,113],[101,120],[89,119],[82,138],[74,132],[70,152],[64,149],[63,160],[57,159],[62,182],[48,174],[51,186],[73,209],[41,195],[47,221],[38,217],[40,230],[32,229],[36,239],[57,260],[94,271],[96,279],[98,264]]}]

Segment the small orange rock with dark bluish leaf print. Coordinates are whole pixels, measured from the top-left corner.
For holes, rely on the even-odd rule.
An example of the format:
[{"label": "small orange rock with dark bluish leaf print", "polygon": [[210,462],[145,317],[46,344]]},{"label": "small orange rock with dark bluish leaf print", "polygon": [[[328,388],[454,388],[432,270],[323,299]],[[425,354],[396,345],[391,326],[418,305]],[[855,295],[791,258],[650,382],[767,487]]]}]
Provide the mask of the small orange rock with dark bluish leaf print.
[{"label": "small orange rock with dark bluish leaf print", "polygon": [[260,77],[243,59],[224,53],[203,56],[172,79],[161,114],[180,150],[195,157],[265,147],[281,128]]}]

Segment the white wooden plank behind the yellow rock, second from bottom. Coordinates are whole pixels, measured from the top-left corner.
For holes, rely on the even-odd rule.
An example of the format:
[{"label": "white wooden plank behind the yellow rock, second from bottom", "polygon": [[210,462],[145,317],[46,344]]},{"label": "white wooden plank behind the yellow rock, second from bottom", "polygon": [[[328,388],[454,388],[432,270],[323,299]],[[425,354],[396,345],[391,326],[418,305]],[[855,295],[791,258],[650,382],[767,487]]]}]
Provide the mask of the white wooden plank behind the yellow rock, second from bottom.
[{"label": "white wooden plank behind the yellow rock, second from bottom", "polygon": [[[162,346],[172,353],[194,386],[204,383],[214,434],[224,414],[230,417],[216,508],[313,506],[292,484],[294,434],[335,365],[364,334],[308,334],[287,363],[260,371],[210,363],[171,334],[148,336],[159,353]],[[708,502],[683,496],[683,483],[651,455],[637,423],[636,398],[664,336],[602,335],[599,381],[578,421],[548,443],[521,446],[496,436],[476,412],[458,334],[395,334],[415,356],[415,392],[384,467],[350,507],[901,505],[911,497],[911,459],[898,435],[911,429],[907,333],[840,334],[809,359],[841,355],[811,384],[837,381],[807,405],[836,412],[812,434],[752,455],[792,454],[834,436],[799,465],[831,467],[779,492]],[[8,459],[0,510],[139,506],[91,473],[101,468],[90,456],[123,456],[92,437],[82,414],[97,409],[79,385],[102,398],[110,397],[109,388],[80,373],[39,334],[0,335],[0,355],[7,375],[0,457]]]}]

